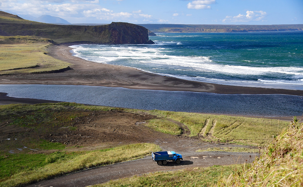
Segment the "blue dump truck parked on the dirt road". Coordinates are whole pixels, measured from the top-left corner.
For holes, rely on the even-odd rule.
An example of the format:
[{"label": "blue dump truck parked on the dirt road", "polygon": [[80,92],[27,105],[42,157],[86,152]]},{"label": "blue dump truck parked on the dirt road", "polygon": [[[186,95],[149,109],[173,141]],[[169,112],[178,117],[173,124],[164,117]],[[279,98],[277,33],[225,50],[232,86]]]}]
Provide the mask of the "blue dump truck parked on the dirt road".
[{"label": "blue dump truck parked on the dirt road", "polygon": [[175,153],[174,151],[161,151],[161,152],[152,152],[151,151],[152,160],[157,162],[160,166],[161,164],[166,165],[167,161],[172,160],[177,164],[183,160],[182,155]]}]

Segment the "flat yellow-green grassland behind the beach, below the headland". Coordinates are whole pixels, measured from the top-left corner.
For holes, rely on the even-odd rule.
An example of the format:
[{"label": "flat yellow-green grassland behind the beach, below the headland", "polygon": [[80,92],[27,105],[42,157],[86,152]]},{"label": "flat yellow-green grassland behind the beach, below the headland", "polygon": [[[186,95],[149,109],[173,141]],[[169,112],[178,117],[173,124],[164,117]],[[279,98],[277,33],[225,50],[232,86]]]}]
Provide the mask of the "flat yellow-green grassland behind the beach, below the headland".
[{"label": "flat yellow-green grassland behind the beach, below the headland", "polygon": [[68,68],[70,63],[48,56],[49,39],[35,36],[0,36],[0,75],[47,73]]}]

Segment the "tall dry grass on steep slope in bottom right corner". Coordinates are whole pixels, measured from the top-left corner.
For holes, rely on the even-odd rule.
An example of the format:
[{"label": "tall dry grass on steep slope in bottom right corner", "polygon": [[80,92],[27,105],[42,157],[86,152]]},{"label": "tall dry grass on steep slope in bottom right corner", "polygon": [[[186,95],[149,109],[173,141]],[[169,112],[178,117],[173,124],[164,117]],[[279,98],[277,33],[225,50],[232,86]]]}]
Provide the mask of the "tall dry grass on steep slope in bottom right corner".
[{"label": "tall dry grass on steep slope in bottom right corner", "polygon": [[218,186],[302,186],[302,163],[303,123],[294,118],[248,169],[220,179]]}]

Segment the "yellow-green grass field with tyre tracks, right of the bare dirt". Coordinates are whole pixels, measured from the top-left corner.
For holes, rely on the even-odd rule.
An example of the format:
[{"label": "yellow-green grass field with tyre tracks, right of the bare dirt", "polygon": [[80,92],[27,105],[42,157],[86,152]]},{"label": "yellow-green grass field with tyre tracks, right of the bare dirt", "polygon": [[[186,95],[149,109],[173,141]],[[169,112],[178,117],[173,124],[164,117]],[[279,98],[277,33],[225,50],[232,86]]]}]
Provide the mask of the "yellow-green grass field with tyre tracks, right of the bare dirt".
[{"label": "yellow-green grass field with tyre tracks, right of the bare dirt", "polygon": [[212,141],[254,146],[269,143],[271,137],[281,132],[289,123],[287,121],[275,119],[159,110],[151,110],[148,111],[148,113],[157,115],[161,118],[173,119],[185,124],[191,131],[191,137],[198,136],[202,128],[206,125],[206,122],[209,121],[203,135],[207,136],[210,130],[213,129],[211,136],[208,137]]}]

